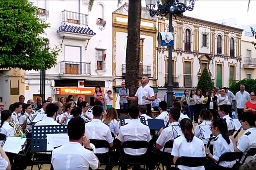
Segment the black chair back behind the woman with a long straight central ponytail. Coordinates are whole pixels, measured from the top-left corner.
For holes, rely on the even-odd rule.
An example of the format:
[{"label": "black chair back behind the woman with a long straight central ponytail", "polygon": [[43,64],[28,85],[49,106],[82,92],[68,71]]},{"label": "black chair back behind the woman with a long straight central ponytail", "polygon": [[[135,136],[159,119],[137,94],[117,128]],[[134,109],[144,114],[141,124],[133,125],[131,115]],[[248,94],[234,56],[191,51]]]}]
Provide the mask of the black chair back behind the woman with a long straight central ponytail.
[{"label": "black chair back behind the woman with a long straight central ponytail", "polygon": [[187,167],[200,167],[200,166],[207,166],[210,163],[211,161],[206,157],[180,156],[175,162],[175,168],[177,168],[177,166],[179,165],[187,166]]}]

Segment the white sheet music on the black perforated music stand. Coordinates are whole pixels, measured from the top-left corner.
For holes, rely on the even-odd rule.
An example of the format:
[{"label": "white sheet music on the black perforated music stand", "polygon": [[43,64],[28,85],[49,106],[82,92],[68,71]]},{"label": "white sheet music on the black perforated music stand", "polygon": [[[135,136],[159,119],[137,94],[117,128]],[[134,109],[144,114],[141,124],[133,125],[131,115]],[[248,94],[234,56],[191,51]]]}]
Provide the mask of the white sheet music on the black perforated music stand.
[{"label": "white sheet music on the black perforated music stand", "polygon": [[69,137],[67,133],[47,134],[47,151],[51,151],[54,147],[67,144],[68,142]]}]

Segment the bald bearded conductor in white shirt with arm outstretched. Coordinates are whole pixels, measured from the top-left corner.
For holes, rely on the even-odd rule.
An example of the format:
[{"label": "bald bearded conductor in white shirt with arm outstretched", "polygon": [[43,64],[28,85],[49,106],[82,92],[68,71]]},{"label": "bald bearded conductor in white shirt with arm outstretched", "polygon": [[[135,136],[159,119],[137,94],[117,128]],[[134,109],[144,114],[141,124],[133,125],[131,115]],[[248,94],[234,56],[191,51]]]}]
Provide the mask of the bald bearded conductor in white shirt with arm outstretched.
[{"label": "bald bearded conductor in white shirt with arm outstretched", "polygon": [[154,90],[148,85],[148,77],[142,77],[141,86],[138,88],[134,97],[126,96],[128,100],[138,100],[139,105],[147,106],[147,115],[151,116],[151,102],[155,100]]}]

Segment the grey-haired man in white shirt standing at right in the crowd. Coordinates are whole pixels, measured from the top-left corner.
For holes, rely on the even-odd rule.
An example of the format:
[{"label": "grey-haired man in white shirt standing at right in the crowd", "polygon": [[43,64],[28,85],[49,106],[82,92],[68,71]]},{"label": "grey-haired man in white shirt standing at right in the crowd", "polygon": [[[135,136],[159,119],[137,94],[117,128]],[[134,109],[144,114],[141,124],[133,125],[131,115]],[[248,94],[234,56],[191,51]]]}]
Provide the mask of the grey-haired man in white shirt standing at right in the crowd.
[{"label": "grey-haired man in white shirt standing at right in the crowd", "polygon": [[250,94],[245,91],[245,86],[240,85],[240,91],[236,93],[236,108],[238,117],[244,112],[244,105],[247,101],[250,101]]}]

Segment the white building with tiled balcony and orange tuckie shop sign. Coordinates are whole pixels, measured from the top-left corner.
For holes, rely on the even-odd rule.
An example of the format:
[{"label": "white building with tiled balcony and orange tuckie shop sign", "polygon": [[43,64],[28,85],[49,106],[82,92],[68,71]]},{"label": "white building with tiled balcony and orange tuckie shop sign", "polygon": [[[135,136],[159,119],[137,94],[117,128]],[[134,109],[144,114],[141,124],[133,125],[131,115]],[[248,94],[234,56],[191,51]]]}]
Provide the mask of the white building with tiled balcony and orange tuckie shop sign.
[{"label": "white building with tiled balcony and orange tuckie shop sign", "polygon": [[[40,17],[50,24],[44,36],[61,52],[57,65],[46,71],[46,98],[70,94],[93,102],[96,85],[112,90],[112,12],[117,2],[89,0],[33,0]],[[25,97],[40,94],[40,71],[25,72]]]}]

